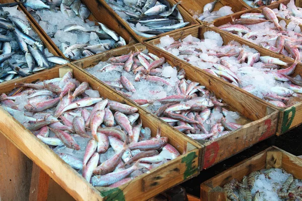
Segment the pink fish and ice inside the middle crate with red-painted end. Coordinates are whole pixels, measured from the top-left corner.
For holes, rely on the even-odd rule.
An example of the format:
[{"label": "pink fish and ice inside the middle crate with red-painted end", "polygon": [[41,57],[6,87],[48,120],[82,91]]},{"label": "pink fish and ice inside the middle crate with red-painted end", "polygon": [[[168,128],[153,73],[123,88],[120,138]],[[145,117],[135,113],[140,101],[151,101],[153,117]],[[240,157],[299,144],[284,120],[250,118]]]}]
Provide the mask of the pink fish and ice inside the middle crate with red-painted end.
[{"label": "pink fish and ice inside the middle crate with red-painted end", "polygon": [[85,70],[195,140],[215,139],[248,123],[205,86],[185,79],[183,69],[177,71],[147,50]]}]

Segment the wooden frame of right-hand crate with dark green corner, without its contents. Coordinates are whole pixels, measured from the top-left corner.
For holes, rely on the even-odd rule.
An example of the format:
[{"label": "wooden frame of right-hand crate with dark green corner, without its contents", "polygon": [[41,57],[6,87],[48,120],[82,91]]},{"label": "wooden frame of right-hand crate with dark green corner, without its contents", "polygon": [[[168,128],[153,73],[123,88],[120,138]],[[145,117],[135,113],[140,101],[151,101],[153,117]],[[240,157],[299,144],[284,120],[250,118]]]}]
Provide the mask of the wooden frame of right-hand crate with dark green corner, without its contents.
[{"label": "wooden frame of right-hand crate with dark green corner, without its contents", "polygon": [[[254,12],[259,12],[259,11],[255,11],[255,10],[253,10],[253,11]],[[236,14],[236,15],[240,15],[240,14]],[[233,34],[221,31],[220,29],[217,29],[215,27],[200,26],[200,27],[191,28],[189,30],[186,30],[186,32],[179,32],[179,33],[176,33],[176,34],[171,34],[170,36],[173,37],[176,40],[183,39],[183,38],[187,37],[190,34],[192,36],[202,38],[203,33],[206,32],[206,31],[215,31],[215,32],[219,33],[220,36],[223,39],[224,45],[228,44],[232,40],[236,40],[236,41],[240,42],[241,44],[245,44],[245,45],[248,45],[248,46],[256,49],[260,53],[261,56],[271,56],[271,57],[279,58],[279,59],[281,59],[285,62],[293,62],[292,58],[285,57],[281,54],[277,54],[277,53],[274,53],[272,51],[268,51],[267,49],[264,49],[264,48],[254,44],[254,43],[243,40],[240,37],[237,37]],[[149,41],[148,43],[155,45],[155,44],[160,43],[160,39],[155,39],[155,40]],[[161,51],[162,54],[164,54],[165,51],[161,50],[158,47],[156,47],[156,48],[159,51]],[[165,52],[165,53],[167,53],[167,52]],[[170,57],[173,57],[175,60],[178,60],[179,62],[185,62],[181,59],[178,59],[178,58],[174,57],[172,54],[169,54],[169,55],[170,55]],[[185,62],[185,63],[188,64],[191,68],[199,69],[199,68],[189,64],[188,62]],[[302,65],[301,65],[301,63],[299,63],[296,66],[295,72],[291,76],[296,76],[297,74],[299,74],[301,72],[302,72]],[[211,76],[211,75],[209,75],[209,76]],[[224,81],[220,78],[217,78],[217,77],[214,77],[214,76],[211,76],[211,77],[213,77],[213,79],[216,80],[215,82],[217,82],[217,81],[222,82],[224,84],[223,87],[225,87],[225,85],[230,85],[230,87],[234,87],[233,84],[231,84],[229,82],[226,82],[226,81]],[[295,104],[295,105],[293,105],[289,108],[283,109],[283,108],[276,107],[276,106],[274,106],[270,103],[267,103],[264,100],[262,100],[261,98],[255,96],[255,95],[253,95],[253,94],[251,94],[251,93],[249,93],[249,92],[247,92],[247,91],[245,91],[245,90],[243,90],[239,87],[234,87],[234,88],[236,88],[236,90],[240,91],[241,93],[247,94],[251,98],[258,99],[260,102],[262,102],[266,106],[268,106],[270,108],[274,108],[275,110],[279,111],[280,115],[279,115],[279,122],[278,122],[278,128],[277,128],[277,135],[282,135],[283,133],[287,132],[288,130],[293,129],[293,128],[295,128],[295,127],[302,124],[302,102],[300,102],[298,104]],[[259,111],[259,110],[256,110],[256,111]]]}]

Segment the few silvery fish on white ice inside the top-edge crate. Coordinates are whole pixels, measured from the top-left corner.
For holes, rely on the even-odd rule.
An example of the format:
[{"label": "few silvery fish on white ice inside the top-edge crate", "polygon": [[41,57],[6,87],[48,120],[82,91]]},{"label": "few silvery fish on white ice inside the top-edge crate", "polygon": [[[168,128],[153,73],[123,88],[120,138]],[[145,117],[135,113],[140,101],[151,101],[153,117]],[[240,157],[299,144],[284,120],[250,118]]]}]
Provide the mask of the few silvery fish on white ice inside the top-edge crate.
[{"label": "few silvery fish on white ice inside the top-edge crate", "polygon": [[208,3],[203,7],[203,13],[201,15],[196,14],[193,17],[198,18],[199,20],[205,21],[205,22],[213,22],[217,18],[221,18],[223,16],[231,15],[234,12],[232,11],[232,8],[229,6],[221,7],[218,11],[214,11],[215,5],[220,0],[215,0],[214,2]]}]

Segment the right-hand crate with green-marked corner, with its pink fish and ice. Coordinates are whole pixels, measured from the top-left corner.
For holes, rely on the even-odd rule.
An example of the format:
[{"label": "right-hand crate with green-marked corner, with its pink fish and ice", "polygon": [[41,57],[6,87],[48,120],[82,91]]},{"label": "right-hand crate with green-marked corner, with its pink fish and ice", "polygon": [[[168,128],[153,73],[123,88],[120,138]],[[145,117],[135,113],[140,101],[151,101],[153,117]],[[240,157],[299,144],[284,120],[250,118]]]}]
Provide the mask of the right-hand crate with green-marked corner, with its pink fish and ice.
[{"label": "right-hand crate with green-marked corner, with its pink fish and ice", "polygon": [[[191,34],[193,30],[198,38]],[[192,68],[204,69],[217,81],[234,85],[242,93],[278,110],[278,135],[302,123],[300,63],[214,27],[187,32],[150,43],[175,55],[175,59],[189,63]]]}]

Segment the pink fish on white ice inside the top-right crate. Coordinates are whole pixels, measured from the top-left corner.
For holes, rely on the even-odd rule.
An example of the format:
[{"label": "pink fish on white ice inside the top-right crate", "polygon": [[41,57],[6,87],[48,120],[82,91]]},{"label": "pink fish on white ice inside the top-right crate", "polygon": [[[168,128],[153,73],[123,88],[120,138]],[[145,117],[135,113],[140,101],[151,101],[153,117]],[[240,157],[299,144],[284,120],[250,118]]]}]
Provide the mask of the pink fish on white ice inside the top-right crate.
[{"label": "pink fish on white ice inside the top-right crate", "polygon": [[293,21],[285,26],[285,21],[279,22],[271,9],[263,8],[262,13],[243,14],[240,19],[218,28],[299,62],[302,50],[300,27]]}]

